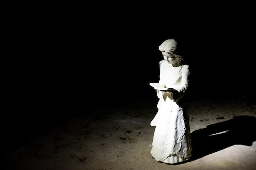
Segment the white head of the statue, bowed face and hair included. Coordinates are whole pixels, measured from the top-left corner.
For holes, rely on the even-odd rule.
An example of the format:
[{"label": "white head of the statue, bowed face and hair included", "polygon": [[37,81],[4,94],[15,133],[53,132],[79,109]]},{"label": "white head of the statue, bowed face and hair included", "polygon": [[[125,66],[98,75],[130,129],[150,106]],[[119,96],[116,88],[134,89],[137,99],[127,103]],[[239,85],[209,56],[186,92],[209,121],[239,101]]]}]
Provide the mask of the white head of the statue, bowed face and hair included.
[{"label": "white head of the statue, bowed face and hair included", "polygon": [[164,59],[169,64],[176,63],[177,65],[181,65],[183,59],[180,55],[176,55],[176,46],[177,42],[174,39],[165,40],[160,46],[159,50],[162,52]]}]

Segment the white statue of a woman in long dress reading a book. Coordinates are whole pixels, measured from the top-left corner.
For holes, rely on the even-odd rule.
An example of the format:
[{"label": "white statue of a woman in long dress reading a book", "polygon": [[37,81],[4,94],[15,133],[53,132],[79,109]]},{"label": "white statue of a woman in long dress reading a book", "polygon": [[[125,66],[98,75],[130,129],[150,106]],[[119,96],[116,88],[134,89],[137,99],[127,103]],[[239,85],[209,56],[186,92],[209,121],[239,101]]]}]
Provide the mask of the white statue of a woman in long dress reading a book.
[{"label": "white statue of a woman in long dress reading a book", "polygon": [[155,127],[151,155],[155,160],[175,164],[192,156],[189,120],[182,97],[187,92],[189,67],[176,55],[176,40],[165,40],[159,50],[164,56],[160,61],[159,83],[150,83],[160,99],[158,112],[151,121]]}]

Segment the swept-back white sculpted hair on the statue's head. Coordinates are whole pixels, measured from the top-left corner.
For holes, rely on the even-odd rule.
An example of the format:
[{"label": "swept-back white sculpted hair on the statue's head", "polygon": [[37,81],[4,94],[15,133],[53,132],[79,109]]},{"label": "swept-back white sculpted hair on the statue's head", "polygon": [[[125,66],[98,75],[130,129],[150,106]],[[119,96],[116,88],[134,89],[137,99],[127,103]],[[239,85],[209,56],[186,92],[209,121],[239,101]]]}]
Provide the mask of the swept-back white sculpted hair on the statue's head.
[{"label": "swept-back white sculpted hair on the statue's head", "polygon": [[166,52],[166,53],[174,55],[176,60],[178,61],[179,65],[182,65],[184,63],[184,60],[182,59],[181,55],[176,55],[176,51],[175,51],[176,46],[177,46],[177,41],[174,39],[169,39],[169,40],[165,40],[159,46],[159,50],[162,52]]}]

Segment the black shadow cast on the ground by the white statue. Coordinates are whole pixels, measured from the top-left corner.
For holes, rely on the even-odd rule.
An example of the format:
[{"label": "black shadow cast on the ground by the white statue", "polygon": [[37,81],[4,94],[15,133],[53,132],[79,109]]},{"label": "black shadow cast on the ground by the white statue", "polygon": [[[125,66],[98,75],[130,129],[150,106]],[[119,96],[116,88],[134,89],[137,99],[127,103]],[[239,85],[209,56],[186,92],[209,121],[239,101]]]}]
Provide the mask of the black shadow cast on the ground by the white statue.
[{"label": "black shadow cast on the ground by the white statue", "polygon": [[208,125],[191,133],[193,153],[189,161],[223,150],[232,145],[251,146],[256,141],[256,117],[235,116],[231,120]]}]

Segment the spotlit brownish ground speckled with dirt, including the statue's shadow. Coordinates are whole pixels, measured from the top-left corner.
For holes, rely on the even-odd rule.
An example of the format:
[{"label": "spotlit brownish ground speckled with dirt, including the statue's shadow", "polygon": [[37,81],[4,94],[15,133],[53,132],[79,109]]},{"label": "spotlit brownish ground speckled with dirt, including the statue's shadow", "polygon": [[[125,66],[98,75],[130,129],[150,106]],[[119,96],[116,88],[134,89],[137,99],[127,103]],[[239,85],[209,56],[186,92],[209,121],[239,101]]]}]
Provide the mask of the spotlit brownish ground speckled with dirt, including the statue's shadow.
[{"label": "spotlit brownish ground speckled with dirt, including the statue's shadow", "polygon": [[256,170],[256,105],[247,96],[187,97],[193,156],[150,155],[157,97],[92,108],[5,155],[2,170]]}]

